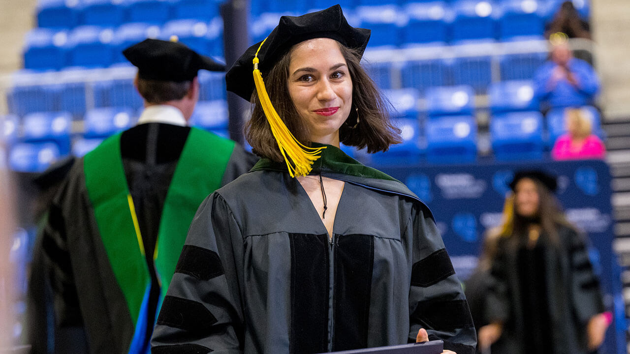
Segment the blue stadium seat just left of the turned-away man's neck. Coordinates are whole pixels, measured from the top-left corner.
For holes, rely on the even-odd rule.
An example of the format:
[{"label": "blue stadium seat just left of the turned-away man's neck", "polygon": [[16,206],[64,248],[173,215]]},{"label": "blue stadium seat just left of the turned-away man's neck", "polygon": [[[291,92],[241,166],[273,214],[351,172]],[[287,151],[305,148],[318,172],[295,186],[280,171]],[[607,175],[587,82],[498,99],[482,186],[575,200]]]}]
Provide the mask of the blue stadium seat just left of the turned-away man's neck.
[{"label": "blue stadium seat just left of the turned-away man's neck", "polygon": [[134,110],[131,108],[93,108],[85,113],[83,137],[103,139],[131,127],[134,123]]}]

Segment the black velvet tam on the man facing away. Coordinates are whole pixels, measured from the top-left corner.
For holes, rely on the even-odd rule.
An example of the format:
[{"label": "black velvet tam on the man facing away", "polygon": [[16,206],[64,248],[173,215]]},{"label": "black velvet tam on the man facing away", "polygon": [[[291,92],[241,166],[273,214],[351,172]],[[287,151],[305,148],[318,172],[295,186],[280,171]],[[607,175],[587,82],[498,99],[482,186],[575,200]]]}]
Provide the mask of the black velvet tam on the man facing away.
[{"label": "black velvet tam on the man facing away", "polygon": [[146,39],[123,50],[125,58],[138,67],[140,79],[159,81],[191,81],[200,69],[225,71],[223,64],[179,42]]}]

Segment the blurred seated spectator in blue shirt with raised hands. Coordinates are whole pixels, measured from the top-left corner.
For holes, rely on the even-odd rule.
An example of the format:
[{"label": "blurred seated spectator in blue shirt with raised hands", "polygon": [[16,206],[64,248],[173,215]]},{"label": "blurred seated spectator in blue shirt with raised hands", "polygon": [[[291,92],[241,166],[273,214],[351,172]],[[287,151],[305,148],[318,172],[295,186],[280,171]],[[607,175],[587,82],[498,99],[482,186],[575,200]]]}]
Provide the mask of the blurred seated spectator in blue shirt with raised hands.
[{"label": "blurred seated spectator in blue shirt with raised hands", "polygon": [[550,108],[593,105],[599,86],[593,67],[574,58],[566,41],[554,45],[551,59],[534,77],[534,94],[543,113]]}]

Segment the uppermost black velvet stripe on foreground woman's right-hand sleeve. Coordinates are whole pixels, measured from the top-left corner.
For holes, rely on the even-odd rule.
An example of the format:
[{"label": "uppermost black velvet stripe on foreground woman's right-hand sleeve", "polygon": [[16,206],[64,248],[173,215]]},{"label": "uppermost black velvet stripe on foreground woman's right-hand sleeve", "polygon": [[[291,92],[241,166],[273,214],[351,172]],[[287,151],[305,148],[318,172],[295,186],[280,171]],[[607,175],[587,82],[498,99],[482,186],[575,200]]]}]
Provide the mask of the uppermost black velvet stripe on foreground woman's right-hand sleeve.
[{"label": "uppermost black velvet stripe on foreground woman's right-hand sleeve", "polygon": [[446,249],[438,249],[427,258],[417,261],[411,269],[411,285],[430,287],[455,274]]}]

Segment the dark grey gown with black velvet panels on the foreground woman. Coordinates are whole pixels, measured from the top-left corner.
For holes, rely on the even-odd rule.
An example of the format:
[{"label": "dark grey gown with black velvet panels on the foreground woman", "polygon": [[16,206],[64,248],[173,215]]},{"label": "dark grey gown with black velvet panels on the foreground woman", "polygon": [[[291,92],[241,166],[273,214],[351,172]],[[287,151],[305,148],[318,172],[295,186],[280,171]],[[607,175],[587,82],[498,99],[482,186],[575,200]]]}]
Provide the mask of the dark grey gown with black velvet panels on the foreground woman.
[{"label": "dark grey gown with black velvet panels on the foreground woman", "polygon": [[263,159],[193,219],[152,353],[321,353],[415,342],[474,353],[466,298],[431,212],[403,183],[328,146],[345,181],[329,239],[299,181]]}]

